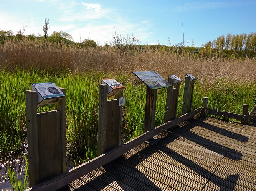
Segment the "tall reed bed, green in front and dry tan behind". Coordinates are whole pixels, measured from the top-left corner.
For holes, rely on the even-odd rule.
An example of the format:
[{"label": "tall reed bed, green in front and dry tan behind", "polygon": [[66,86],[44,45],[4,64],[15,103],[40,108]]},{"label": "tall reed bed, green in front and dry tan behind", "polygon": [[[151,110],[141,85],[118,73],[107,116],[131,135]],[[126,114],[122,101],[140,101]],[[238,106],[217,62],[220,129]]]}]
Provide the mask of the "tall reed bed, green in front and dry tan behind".
[{"label": "tall reed bed, green in front and dry tan behind", "polygon": [[[145,46],[133,52],[113,47],[78,49],[48,42],[7,41],[0,46],[0,163],[23,150],[26,143],[25,90],[31,83],[53,81],[66,88],[66,148],[69,158],[87,161],[96,156],[99,84],[115,78],[124,83],[122,140],[143,132],[146,87],[132,71],[157,71],[165,79],[174,74],[183,80],[190,73],[195,83],[192,109],[209,97],[209,108],[242,113],[243,104],[254,105],[256,62],[254,59],[203,60]],[[178,99],[182,111],[183,86]],[[157,94],[155,126],[163,123],[166,89]],[[38,108],[38,112],[54,106]]]}]

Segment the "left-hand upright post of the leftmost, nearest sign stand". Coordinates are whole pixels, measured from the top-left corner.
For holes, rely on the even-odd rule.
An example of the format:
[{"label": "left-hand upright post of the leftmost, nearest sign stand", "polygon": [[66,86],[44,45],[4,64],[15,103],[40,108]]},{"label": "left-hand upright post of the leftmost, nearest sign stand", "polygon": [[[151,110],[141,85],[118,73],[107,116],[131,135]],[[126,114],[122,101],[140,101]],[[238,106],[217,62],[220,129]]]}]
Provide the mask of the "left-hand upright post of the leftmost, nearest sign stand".
[{"label": "left-hand upright post of the leftmost, nearest sign stand", "polygon": [[30,187],[39,183],[39,150],[36,105],[36,92],[26,90],[26,125],[28,136],[28,171],[30,175]]}]

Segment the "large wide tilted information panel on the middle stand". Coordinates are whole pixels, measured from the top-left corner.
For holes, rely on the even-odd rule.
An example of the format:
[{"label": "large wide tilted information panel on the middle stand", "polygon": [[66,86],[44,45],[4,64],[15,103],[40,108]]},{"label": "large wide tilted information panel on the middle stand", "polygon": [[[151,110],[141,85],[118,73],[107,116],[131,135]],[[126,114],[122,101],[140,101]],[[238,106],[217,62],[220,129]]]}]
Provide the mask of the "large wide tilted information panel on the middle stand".
[{"label": "large wide tilted information panel on the middle stand", "polygon": [[160,76],[156,71],[140,71],[132,72],[140,80],[142,80],[151,89],[159,89],[163,87],[170,87],[172,84],[168,83],[162,76]]}]

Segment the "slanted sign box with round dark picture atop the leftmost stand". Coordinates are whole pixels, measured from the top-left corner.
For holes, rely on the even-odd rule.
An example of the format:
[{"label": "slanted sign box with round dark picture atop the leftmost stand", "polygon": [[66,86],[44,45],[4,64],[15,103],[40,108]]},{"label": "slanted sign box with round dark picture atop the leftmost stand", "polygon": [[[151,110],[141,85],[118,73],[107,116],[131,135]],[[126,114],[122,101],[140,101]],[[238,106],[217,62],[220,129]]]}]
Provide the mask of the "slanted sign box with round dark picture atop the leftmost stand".
[{"label": "slanted sign box with round dark picture atop the leftmost stand", "polygon": [[31,89],[37,94],[37,107],[56,104],[63,99],[65,95],[53,82],[33,83]]}]

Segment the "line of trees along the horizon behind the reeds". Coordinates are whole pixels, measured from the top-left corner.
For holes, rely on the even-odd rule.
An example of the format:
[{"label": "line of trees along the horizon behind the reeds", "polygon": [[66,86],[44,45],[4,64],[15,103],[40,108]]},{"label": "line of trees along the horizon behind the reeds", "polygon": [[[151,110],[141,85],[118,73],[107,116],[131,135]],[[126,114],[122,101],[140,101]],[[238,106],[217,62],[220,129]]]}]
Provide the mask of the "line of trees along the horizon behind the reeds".
[{"label": "line of trees along the horizon behind the reeds", "polygon": [[[26,26],[23,29],[18,30],[14,33],[12,30],[0,31],[0,44],[5,44],[8,40],[20,41],[20,40],[40,40],[43,42],[50,42],[51,44],[57,44],[61,46],[73,45],[78,48],[93,47],[96,48],[97,44],[94,40],[84,39],[79,43],[73,42],[73,37],[67,32],[54,31],[50,36],[48,36],[49,31],[49,19],[45,18],[45,23],[43,24],[43,34],[35,36],[35,34],[24,35]],[[170,42],[170,38],[168,38]],[[221,57],[221,58],[254,58],[256,57],[256,33],[252,32],[250,34],[230,34],[226,36],[221,35],[217,37],[216,40],[207,42],[201,45],[201,47],[195,47],[193,40],[192,46],[187,47],[183,43],[178,43],[173,46],[168,45],[140,45],[140,40],[133,34],[127,37],[121,35],[114,35],[112,41],[107,42],[104,45],[105,48],[112,47],[117,48],[122,52],[132,52],[136,50],[146,51],[149,48],[154,52],[167,52],[175,53],[179,55],[189,55],[198,58],[211,58],[211,57]]]}]

